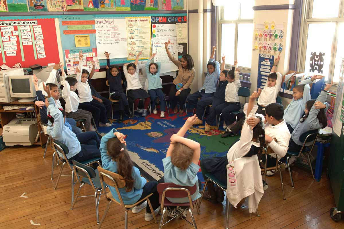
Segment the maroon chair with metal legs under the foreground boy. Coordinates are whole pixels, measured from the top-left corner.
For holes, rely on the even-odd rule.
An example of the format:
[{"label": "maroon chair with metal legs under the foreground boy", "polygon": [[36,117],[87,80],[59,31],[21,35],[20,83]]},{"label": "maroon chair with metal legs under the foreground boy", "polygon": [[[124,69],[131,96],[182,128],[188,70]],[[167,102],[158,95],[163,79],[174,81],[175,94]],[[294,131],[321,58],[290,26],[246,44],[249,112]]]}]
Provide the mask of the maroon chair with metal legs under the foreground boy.
[{"label": "maroon chair with metal legs under the foreground boy", "polygon": [[[200,215],[201,213],[200,213],[200,208],[198,207],[197,201],[192,201],[192,199],[191,199],[191,195],[194,194],[197,190],[196,185],[198,185],[198,183],[196,183],[192,187],[180,186],[180,185],[176,185],[173,183],[160,183],[160,184],[158,184],[157,189],[158,189],[158,193],[159,193],[159,204],[161,204],[160,209],[163,209],[162,216],[160,219],[159,229],[161,229],[162,226],[164,226],[165,224],[167,224],[168,222],[170,222],[172,219],[174,219],[177,216],[184,219],[184,217],[182,217],[181,214],[186,209],[189,209],[189,213],[190,213],[190,217],[191,217],[192,222],[190,222],[186,219],[184,219],[184,220],[186,222],[188,222],[189,224],[193,225],[194,229],[197,229],[195,219],[192,215],[192,209],[194,208],[194,204],[196,204],[197,214]],[[175,204],[175,203],[170,202],[166,197],[169,197],[169,198],[188,197],[189,202]],[[174,210],[172,210],[170,208],[170,206],[187,206],[189,208],[186,208],[183,211],[181,211],[180,213],[177,213]],[[174,211],[177,215],[163,224],[165,213],[166,213],[166,208],[169,208],[170,210]]]}]

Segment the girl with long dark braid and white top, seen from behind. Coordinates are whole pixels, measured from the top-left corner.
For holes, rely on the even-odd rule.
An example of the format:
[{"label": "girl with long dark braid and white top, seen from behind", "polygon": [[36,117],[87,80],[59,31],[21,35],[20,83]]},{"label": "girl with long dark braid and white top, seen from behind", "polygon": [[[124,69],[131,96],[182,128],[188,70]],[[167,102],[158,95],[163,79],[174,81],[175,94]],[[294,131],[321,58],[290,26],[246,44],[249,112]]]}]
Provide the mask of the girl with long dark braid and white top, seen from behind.
[{"label": "girl with long dark braid and white top, seen from behind", "polygon": [[[207,158],[201,160],[201,170],[203,176],[206,173],[211,173],[221,181],[227,184],[226,167],[229,162],[241,157],[251,157],[260,153],[266,148],[265,131],[264,131],[264,116],[256,114],[258,109],[254,105],[255,100],[259,97],[261,89],[258,92],[254,91],[250,96],[249,103],[245,104],[244,113],[246,113],[246,120],[241,130],[240,139],[235,142],[228,150],[227,155],[222,158]],[[204,176],[204,180],[206,177]],[[222,202],[224,193],[219,190],[215,193],[214,185],[208,182],[207,196],[212,203]]]}]

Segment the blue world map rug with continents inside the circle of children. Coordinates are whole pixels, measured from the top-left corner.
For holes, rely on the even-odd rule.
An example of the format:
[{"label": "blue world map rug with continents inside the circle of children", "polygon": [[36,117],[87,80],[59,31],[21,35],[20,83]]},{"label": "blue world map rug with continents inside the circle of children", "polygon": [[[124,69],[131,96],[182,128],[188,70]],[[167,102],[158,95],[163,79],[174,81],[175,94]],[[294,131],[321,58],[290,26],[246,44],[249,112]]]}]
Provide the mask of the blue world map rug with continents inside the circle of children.
[{"label": "blue world map rug with continents inside the circle of children", "polygon": [[[166,157],[170,138],[184,125],[187,117],[191,116],[191,112],[188,112],[188,115],[185,112],[183,114],[165,112],[165,116],[161,118],[160,112],[147,117],[135,114],[134,118],[126,119],[123,123],[117,123],[114,120],[111,127],[99,127],[98,131],[104,136],[115,128],[126,135],[130,157],[140,169],[141,174],[148,180],[159,180],[164,175],[162,159]],[[229,146],[239,138],[239,136],[221,138],[221,134],[222,131],[217,130],[215,126],[212,126],[208,133],[204,132],[204,126],[194,126],[186,132],[185,137],[200,143],[200,160],[202,160],[208,157],[225,156]],[[201,182],[204,182],[201,170],[197,176]]]}]

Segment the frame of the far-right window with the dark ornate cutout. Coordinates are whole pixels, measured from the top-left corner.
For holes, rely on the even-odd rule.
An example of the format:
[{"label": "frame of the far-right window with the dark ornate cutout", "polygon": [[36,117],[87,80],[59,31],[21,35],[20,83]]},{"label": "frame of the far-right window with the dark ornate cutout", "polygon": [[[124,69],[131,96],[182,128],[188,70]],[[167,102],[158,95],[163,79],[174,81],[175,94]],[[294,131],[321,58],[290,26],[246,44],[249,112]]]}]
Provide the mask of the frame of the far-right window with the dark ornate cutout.
[{"label": "frame of the far-right window with the dark ornate cutout", "polygon": [[[305,69],[305,61],[307,56],[307,42],[308,42],[308,28],[310,24],[313,23],[326,23],[326,22],[334,22],[335,23],[335,31],[332,40],[332,50],[331,50],[331,60],[329,66],[329,77],[327,79],[327,83],[331,82],[334,78],[334,68],[335,68],[335,58],[337,55],[337,44],[338,44],[338,29],[340,23],[344,23],[344,0],[340,0],[339,8],[338,8],[338,16],[337,18],[312,18],[313,14],[313,5],[314,0],[306,0],[304,1],[303,10],[302,10],[302,18],[301,18],[301,32],[300,32],[300,41],[299,41],[299,57],[300,61],[298,61],[297,70],[300,72],[304,72]],[[337,84],[334,82],[333,84]]]}]

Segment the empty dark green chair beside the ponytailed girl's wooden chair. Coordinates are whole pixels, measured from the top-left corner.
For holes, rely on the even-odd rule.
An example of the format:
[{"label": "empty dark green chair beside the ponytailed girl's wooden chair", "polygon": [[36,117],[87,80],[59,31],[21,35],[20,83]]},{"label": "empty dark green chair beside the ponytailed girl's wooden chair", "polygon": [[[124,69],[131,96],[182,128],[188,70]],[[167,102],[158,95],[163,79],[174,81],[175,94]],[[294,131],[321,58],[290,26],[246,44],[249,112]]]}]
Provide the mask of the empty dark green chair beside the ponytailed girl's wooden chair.
[{"label": "empty dark green chair beside the ponytailed girl's wooden chair", "polygon": [[[99,161],[95,161],[92,162],[93,163],[97,163],[99,166],[100,163]],[[95,204],[96,204],[96,217],[97,217],[97,224],[99,224],[99,212],[98,212],[98,205],[99,205],[99,200],[100,200],[100,195],[101,195],[101,184],[100,184],[100,180],[99,180],[99,175],[98,175],[98,170],[94,170],[92,167],[84,165],[80,162],[77,162],[75,160],[73,160],[73,170],[75,173],[75,177],[77,182],[79,182],[80,187],[78,189],[78,192],[76,193],[76,196],[74,198],[72,207],[70,208],[71,210],[73,210],[76,201],[79,197],[89,197],[89,196],[94,196],[95,198]],[[83,178],[80,180],[79,176],[82,176]],[[78,196],[81,188],[84,186],[84,184],[88,184],[93,188],[93,191],[95,192],[94,195],[89,195],[89,196]],[[106,188],[108,185],[107,184],[103,184],[104,187]],[[98,198],[99,195],[99,198]]]}]

